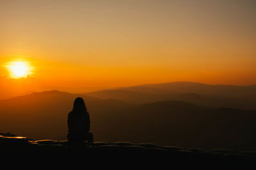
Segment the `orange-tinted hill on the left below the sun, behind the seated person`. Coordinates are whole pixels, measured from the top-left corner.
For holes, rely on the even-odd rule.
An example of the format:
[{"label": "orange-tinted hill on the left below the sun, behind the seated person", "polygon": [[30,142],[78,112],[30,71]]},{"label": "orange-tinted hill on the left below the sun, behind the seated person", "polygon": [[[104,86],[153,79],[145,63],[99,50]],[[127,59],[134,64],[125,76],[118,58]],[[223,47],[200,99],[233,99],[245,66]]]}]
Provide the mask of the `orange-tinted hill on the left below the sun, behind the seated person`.
[{"label": "orange-tinted hill on the left below the sun, behind the seated person", "polygon": [[67,115],[78,96],[83,97],[88,111],[92,112],[92,128],[96,132],[104,116],[132,106],[114,99],[102,100],[56,90],[36,92],[0,101],[0,131],[35,139],[65,139]]}]

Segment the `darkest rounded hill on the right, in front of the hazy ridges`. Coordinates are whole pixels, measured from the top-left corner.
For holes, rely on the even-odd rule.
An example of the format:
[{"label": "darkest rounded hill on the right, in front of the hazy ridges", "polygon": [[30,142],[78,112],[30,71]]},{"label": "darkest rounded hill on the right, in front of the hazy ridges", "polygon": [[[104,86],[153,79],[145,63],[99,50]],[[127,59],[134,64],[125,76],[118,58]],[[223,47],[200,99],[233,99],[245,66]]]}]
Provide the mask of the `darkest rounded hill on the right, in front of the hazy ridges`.
[{"label": "darkest rounded hill on the right, in front of the hazy ridges", "polygon": [[[256,111],[205,108],[181,101],[143,104],[117,115],[112,140],[194,148],[256,150]],[[121,123],[122,122],[122,123]],[[111,128],[111,127],[110,127]]]}]

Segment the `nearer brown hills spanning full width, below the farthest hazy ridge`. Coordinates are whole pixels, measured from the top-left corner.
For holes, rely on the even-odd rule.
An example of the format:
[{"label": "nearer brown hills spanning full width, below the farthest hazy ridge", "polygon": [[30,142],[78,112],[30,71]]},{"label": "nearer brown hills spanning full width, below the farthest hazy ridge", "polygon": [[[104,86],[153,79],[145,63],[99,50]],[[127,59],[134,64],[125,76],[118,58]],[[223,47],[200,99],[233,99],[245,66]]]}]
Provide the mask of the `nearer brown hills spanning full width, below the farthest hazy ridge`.
[{"label": "nearer brown hills spanning full width, below the farthest hazy ridge", "polygon": [[[76,97],[51,91],[1,101],[0,131],[34,139],[66,139],[67,114]],[[90,112],[96,141],[256,150],[256,111],[207,108],[183,101],[132,105],[81,97]]]}]

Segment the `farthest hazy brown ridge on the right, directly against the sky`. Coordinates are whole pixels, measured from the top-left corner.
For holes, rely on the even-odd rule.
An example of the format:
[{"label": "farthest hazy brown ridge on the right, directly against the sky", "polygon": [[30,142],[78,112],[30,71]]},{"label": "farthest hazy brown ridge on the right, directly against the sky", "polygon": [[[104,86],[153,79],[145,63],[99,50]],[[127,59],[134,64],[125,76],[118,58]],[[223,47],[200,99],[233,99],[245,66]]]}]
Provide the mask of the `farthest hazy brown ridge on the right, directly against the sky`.
[{"label": "farthest hazy brown ridge on the right, directly against the sky", "polygon": [[115,90],[90,92],[84,95],[100,99],[116,99],[131,104],[175,100],[207,107],[256,110],[256,86],[173,82],[122,87]]}]

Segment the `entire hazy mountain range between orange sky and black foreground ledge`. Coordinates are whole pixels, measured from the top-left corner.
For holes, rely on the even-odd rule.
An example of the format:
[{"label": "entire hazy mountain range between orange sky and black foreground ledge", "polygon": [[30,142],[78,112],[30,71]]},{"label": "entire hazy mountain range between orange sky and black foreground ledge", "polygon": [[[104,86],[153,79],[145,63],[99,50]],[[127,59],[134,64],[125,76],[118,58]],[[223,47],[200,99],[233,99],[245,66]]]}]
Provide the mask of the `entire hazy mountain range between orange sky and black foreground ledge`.
[{"label": "entire hazy mountain range between orange sky and black foreground ledge", "polygon": [[76,97],[96,141],[256,150],[256,87],[175,82],[70,94],[36,92],[0,101],[0,132],[66,139]]}]

